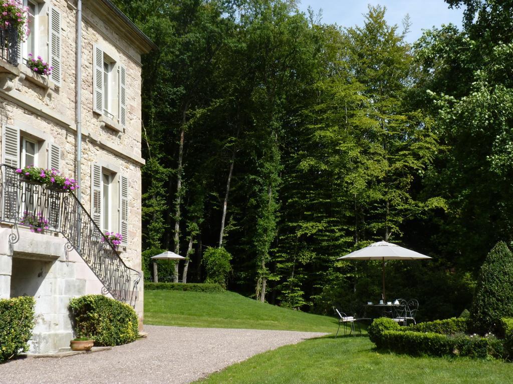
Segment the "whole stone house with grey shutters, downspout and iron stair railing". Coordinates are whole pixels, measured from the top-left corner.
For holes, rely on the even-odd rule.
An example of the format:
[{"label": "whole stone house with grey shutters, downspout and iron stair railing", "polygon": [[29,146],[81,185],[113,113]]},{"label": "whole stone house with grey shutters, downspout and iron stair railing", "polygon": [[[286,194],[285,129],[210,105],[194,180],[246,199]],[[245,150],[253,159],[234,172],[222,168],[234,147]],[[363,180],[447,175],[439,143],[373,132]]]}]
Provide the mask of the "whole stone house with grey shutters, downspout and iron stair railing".
[{"label": "whole stone house with grey shutters, downspout and iron stair railing", "polygon": [[[23,2],[26,41],[0,30],[0,298],[36,298],[30,352],[47,353],[69,347],[71,297],[111,295],[142,325],[141,55],[154,45],[109,0]],[[28,68],[37,56],[49,76]],[[27,165],[80,189],[24,180]]]}]

